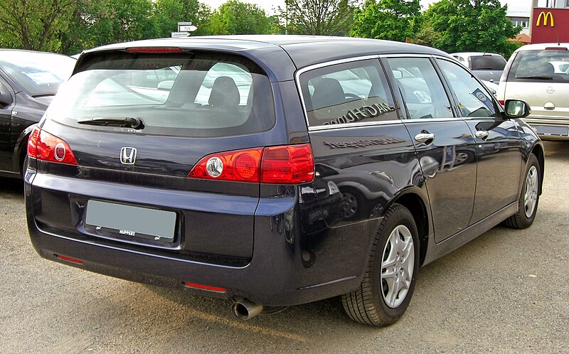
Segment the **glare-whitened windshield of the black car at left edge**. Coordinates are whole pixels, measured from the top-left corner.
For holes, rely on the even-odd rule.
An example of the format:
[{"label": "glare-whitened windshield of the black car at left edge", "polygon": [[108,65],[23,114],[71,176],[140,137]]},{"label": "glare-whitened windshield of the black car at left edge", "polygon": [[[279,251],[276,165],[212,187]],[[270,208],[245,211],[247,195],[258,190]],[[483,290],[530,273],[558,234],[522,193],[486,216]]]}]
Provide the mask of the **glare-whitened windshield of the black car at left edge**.
[{"label": "glare-whitened windshield of the black car at left edge", "polygon": [[0,68],[33,97],[55,95],[74,66],[75,59],[65,55],[23,50],[0,52]]}]

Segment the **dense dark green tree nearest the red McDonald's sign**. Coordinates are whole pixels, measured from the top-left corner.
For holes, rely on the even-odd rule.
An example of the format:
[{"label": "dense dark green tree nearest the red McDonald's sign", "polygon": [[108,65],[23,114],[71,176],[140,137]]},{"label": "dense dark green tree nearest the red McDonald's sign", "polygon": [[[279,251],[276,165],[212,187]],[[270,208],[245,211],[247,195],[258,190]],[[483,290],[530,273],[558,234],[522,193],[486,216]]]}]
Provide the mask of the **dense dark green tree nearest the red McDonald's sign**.
[{"label": "dense dark green tree nearest the red McDonald's sign", "polygon": [[440,0],[425,11],[425,26],[440,33],[435,47],[446,52],[487,51],[509,57],[518,47],[508,41],[521,30],[506,18],[499,0]]}]

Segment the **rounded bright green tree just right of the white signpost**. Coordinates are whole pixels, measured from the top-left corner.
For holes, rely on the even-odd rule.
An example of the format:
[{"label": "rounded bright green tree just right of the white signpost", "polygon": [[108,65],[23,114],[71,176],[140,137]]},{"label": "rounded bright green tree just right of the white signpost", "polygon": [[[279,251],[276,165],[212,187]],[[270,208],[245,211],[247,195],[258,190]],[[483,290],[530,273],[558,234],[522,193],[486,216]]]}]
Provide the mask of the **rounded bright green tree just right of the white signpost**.
[{"label": "rounded bright green tree just right of the white signpost", "polygon": [[254,4],[230,0],[213,11],[208,21],[209,34],[267,34],[272,20]]}]

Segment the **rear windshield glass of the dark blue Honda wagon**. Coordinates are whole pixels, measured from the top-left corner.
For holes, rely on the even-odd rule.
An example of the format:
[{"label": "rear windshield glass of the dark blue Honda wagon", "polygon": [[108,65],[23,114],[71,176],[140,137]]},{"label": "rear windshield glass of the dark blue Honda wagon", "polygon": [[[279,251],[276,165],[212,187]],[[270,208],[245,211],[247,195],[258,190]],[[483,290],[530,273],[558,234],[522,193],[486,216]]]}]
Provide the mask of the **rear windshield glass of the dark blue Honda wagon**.
[{"label": "rear windshield glass of the dark blue Honda wagon", "polygon": [[119,52],[80,65],[48,108],[50,119],[75,125],[133,117],[144,134],[193,137],[263,132],[275,124],[268,77],[238,55]]}]

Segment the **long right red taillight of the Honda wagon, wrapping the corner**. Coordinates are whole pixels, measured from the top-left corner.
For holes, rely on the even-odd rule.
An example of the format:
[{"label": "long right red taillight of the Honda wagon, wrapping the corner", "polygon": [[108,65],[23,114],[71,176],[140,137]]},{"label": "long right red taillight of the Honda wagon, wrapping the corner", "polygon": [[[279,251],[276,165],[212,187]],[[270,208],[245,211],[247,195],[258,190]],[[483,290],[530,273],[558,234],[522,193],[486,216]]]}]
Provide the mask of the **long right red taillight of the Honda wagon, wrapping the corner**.
[{"label": "long right red taillight of the Honda wagon, wrapping the corner", "polygon": [[310,144],[228,151],[204,157],[188,177],[252,183],[306,183],[314,178],[314,159]]}]

